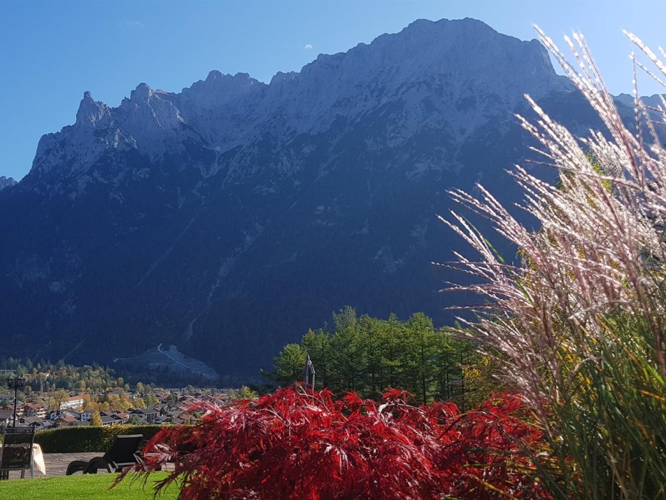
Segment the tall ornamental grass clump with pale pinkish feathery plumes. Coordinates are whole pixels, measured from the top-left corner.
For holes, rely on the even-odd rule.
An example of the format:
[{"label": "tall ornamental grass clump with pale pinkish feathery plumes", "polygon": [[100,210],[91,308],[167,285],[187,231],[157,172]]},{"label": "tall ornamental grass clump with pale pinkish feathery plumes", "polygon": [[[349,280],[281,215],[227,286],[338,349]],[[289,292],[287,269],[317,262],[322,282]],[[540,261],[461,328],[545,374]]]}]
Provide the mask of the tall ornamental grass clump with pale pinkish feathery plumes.
[{"label": "tall ornamental grass clump with pale pinkish feathery plumes", "polygon": [[[497,354],[503,376],[537,413],[558,459],[540,469],[551,493],[665,498],[666,149],[655,118],[666,121],[666,102],[651,109],[635,97],[635,123],[626,125],[583,36],[565,39],[574,68],[537,32],[605,130],[574,137],[526,96],[538,118],[518,119],[560,178],[552,186],[519,166],[512,173],[539,230],[481,186],[478,198],[451,193],[519,249],[510,265],[465,218],[441,218],[480,255],[456,254],[448,264],[481,278],[453,286],[484,298],[474,321],[460,319],[460,333]],[[656,67],[653,73],[632,55],[634,73],[661,82],[665,64],[628,36]]]}]

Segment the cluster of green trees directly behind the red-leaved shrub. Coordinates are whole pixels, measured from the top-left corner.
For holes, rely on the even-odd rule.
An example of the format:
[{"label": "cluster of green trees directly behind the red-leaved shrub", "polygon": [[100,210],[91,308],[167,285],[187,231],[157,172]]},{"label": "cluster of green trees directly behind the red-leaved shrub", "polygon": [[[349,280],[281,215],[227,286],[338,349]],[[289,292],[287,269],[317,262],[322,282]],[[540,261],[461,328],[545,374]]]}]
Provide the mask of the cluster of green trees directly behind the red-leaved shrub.
[{"label": "cluster of green trees directly behind the red-leaved shrub", "polygon": [[422,312],[400,321],[358,316],[352,307],[333,314],[332,327],[309,330],[299,343],[285,345],[263,375],[280,384],[302,380],[306,357],[316,370],[316,387],[355,391],[379,398],[393,387],[419,403],[456,401],[463,408],[493,389],[492,366],[476,346],[434,328]]}]

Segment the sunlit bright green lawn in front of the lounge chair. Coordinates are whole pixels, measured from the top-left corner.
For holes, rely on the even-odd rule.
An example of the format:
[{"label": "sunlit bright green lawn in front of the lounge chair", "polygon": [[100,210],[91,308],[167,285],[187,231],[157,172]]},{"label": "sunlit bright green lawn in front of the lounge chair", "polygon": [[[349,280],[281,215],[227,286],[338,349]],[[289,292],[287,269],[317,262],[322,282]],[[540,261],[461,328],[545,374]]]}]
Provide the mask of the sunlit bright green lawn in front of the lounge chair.
[{"label": "sunlit bright green lawn in front of the lounge chair", "polygon": [[[0,499],[2,500],[90,500],[90,499],[153,499],[153,482],[166,477],[166,473],[156,472],[150,475],[146,489],[143,478],[134,483],[131,477],[125,478],[120,485],[108,489],[115,474],[87,474],[58,476],[55,478],[12,479],[0,481]],[[178,497],[175,485],[166,489],[157,499],[171,500]]]}]

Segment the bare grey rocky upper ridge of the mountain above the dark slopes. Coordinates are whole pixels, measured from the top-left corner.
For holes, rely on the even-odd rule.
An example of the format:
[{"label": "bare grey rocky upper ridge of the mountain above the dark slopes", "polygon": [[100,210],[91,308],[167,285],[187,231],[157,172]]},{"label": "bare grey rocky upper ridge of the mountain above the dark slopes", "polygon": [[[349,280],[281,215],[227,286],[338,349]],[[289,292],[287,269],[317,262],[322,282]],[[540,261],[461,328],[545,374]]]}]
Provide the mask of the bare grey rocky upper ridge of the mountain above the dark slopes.
[{"label": "bare grey rocky upper ridge of the mountain above the dark slopes", "polygon": [[186,141],[228,151],[267,134],[288,140],[395,102],[407,108],[402,139],[415,132],[423,106],[430,106],[455,124],[460,140],[493,117],[505,117],[525,93],[538,99],[555,90],[571,88],[537,41],[498,34],[472,19],[419,20],[370,45],[319,55],[299,73],[276,74],[269,85],[247,74],[211,71],[180,93],[141,83],[118,108],[85,92],[76,124],[41,139],[33,169],[62,168],[72,160],[85,170],[113,149],[135,148],[157,160],[182,152]]}]

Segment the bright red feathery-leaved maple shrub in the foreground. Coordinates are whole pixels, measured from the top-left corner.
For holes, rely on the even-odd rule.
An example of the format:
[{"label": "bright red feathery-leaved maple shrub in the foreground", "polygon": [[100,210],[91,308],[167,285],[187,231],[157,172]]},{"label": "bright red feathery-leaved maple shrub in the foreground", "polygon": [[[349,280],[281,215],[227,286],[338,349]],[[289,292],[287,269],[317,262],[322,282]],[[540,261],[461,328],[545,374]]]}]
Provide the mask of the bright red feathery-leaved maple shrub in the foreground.
[{"label": "bright red feathery-leaved maple shrub in the foreground", "polygon": [[408,396],[391,389],[377,405],[290,387],[207,406],[202,424],[150,440],[144,470],[175,462],[158,489],[180,478],[182,499],[550,498],[530,458],[546,445],[518,396],[465,414]]}]

